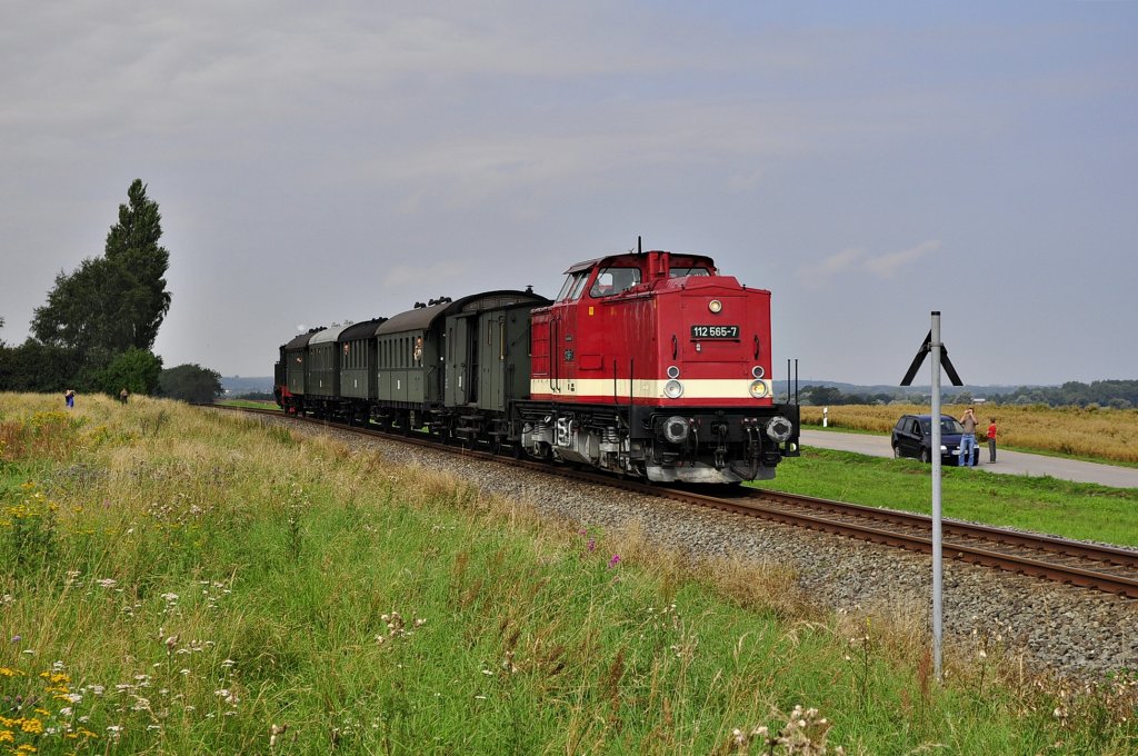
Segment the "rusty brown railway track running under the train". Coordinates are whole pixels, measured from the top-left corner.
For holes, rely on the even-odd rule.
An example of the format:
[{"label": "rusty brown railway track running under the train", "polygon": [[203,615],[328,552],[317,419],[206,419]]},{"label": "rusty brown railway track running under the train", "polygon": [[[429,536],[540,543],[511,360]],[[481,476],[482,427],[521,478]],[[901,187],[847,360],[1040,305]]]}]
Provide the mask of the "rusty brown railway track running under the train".
[{"label": "rusty brown railway track running under the train", "polygon": [[[245,411],[284,417],[275,410]],[[292,417],[290,419],[381,438],[430,445],[435,449],[440,447],[438,439],[419,434],[398,435],[328,424],[311,418]],[[909,551],[932,553],[932,519],[924,515],[747,487],[733,488],[727,493],[715,495],[691,488],[649,485],[632,479],[576,470],[571,467],[510,459],[492,454],[488,451],[456,446],[448,446],[448,449],[467,457],[541,470],[574,480],[618,487]],[[945,559],[982,565],[1138,599],[1138,551],[1135,550],[947,519],[942,523],[942,536]]]}]

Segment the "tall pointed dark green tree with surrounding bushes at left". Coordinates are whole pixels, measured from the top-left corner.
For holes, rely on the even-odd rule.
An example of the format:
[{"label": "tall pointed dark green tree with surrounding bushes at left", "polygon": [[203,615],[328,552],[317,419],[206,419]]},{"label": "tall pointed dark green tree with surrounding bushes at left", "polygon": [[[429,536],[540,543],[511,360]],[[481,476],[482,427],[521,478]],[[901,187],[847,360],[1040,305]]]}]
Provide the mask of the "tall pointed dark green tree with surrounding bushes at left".
[{"label": "tall pointed dark green tree with surrounding bushes at left", "polygon": [[[118,206],[104,254],[60,271],[18,346],[0,340],[0,391],[101,392],[213,401],[221,376],[197,364],[164,370],[154,353],[172,295],[170,252],[159,244],[162,214],[135,179]],[[0,328],[3,327],[0,318]]]}]

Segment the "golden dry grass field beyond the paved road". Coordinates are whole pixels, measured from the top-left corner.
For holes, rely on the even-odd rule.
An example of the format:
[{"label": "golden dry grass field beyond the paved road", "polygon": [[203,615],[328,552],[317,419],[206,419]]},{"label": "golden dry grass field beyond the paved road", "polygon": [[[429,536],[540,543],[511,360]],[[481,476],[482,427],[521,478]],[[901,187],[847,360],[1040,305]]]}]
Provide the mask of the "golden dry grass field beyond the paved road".
[{"label": "golden dry grass field beyond the paved road", "polygon": [[[1138,410],[976,406],[979,435],[984,436],[990,418],[999,429],[1001,447],[1053,452],[1113,462],[1138,463]],[[941,412],[959,418],[966,405],[945,404]],[[820,406],[803,406],[802,422],[822,425]],[[906,413],[927,413],[922,404],[841,404],[828,408],[831,428],[889,433]]]}]

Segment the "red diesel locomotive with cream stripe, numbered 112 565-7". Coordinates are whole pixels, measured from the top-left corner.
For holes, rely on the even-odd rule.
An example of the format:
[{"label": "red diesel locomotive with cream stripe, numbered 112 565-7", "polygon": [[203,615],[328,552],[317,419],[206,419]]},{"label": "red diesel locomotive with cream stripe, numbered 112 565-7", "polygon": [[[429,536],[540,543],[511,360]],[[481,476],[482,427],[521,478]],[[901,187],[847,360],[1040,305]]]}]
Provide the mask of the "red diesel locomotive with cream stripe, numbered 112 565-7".
[{"label": "red diesel locomotive with cream stripe, numbered 112 565-7", "polygon": [[530,326],[531,455],[685,483],[768,479],[798,455],[798,405],[773,401],[770,293],[710,257],[574,265]]}]

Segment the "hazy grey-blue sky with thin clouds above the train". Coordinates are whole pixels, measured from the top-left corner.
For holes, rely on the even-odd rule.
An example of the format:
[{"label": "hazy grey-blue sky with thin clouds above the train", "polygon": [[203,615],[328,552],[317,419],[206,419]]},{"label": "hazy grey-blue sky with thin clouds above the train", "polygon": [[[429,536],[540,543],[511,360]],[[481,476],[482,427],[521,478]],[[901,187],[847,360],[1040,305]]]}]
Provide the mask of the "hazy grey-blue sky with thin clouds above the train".
[{"label": "hazy grey-blue sky with thin clouds above the train", "polygon": [[[165,367],[636,247],[772,297],[775,378],[1138,378],[1138,3],[2,0],[0,339],[163,216]],[[927,384],[927,371],[917,383]]]}]

